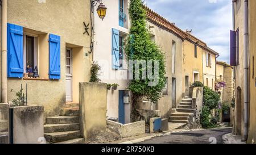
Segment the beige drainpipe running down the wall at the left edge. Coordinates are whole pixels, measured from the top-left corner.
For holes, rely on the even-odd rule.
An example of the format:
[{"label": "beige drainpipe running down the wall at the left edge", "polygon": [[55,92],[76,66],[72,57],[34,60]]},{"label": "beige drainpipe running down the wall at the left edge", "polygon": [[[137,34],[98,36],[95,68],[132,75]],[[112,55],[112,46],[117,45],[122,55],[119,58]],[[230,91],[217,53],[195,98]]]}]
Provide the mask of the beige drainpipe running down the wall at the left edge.
[{"label": "beige drainpipe running down the wall at the left edge", "polygon": [[2,103],[7,103],[7,0],[2,0]]}]

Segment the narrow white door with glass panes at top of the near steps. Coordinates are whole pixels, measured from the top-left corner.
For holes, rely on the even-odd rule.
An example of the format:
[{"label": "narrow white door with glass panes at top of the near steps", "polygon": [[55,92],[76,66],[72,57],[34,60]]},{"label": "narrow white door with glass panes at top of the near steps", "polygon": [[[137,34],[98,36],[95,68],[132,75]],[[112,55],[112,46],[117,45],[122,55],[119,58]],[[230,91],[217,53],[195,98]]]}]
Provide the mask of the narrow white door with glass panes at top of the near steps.
[{"label": "narrow white door with glass panes at top of the near steps", "polygon": [[72,49],[66,49],[66,102],[73,102],[72,96]]}]

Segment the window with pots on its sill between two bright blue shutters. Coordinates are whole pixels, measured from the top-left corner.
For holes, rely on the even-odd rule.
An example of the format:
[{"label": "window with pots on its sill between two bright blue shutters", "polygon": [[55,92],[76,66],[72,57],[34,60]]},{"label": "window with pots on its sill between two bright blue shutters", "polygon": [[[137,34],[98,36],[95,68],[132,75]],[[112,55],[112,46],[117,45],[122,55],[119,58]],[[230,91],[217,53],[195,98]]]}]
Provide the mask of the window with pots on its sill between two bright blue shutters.
[{"label": "window with pots on its sill between two bright blue shutters", "polygon": [[24,73],[33,72],[38,67],[38,36],[24,35],[23,62]]}]

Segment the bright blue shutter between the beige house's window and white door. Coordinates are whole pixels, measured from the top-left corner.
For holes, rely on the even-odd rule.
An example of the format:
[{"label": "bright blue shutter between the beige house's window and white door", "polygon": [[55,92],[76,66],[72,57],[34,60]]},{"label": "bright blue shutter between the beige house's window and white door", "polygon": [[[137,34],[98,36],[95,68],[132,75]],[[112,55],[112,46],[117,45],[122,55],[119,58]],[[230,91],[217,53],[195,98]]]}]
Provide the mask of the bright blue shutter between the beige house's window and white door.
[{"label": "bright blue shutter between the beige house's window and white door", "polygon": [[49,78],[60,79],[60,36],[49,35]]}]

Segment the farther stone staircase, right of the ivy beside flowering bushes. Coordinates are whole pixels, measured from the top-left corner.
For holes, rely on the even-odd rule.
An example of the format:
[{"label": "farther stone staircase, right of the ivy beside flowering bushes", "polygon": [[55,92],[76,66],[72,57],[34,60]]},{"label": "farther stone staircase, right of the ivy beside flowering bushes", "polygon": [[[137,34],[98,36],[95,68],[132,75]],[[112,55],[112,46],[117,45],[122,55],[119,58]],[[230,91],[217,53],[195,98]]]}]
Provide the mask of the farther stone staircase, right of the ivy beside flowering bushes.
[{"label": "farther stone staircase, right of the ivy beside flowering bushes", "polygon": [[189,116],[195,112],[195,109],[192,108],[192,99],[186,98],[182,99],[180,104],[176,108],[176,112],[171,114],[169,118],[170,123],[184,123],[187,125],[189,122]]}]

